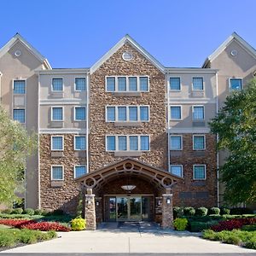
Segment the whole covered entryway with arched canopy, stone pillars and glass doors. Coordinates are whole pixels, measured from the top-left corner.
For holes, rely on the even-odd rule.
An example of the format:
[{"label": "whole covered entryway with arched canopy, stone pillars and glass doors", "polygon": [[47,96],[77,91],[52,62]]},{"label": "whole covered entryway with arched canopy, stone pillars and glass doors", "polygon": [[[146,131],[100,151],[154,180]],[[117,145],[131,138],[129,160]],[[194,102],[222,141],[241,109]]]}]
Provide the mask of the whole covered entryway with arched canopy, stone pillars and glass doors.
[{"label": "whole covered entryway with arched canopy, stone pillars and glass doors", "polygon": [[167,227],[172,225],[171,189],[181,179],[127,158],[79,177],[77,181],[84,183],[87,189],[87,223],[90,218],[98,223],[145,220],[158,221]]}]

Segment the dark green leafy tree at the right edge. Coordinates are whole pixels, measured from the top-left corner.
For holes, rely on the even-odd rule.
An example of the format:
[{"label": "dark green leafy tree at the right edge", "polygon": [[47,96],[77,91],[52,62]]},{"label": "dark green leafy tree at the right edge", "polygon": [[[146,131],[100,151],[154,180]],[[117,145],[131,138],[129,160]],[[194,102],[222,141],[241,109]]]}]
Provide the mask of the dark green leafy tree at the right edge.
[{"label": "dark green leafy tree at the right edge", "polygon": [[225,184],[224,201],[232,205],[256,201],[256,79],[227,97],[211,131],[218,135],[218,149],[229,154],[220,166]]}]

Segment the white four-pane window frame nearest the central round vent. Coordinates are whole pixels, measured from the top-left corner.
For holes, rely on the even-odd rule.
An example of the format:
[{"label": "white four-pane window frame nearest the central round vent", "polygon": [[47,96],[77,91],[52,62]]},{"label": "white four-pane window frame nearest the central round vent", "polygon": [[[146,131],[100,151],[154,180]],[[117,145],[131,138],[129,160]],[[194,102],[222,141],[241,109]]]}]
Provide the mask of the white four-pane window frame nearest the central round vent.
[{"label": "white four-pane window frame nearest the central round vent", "polygon": [[[114,79],[114,90],[107,90],[107,79]],[[118,90],[118,78],[126,79],[126,90]],[[137,78],[137,90],[129,90],[129,78]],[[148,78],[148,90],[141,90],[140,78]],[[106,92],[149,92],[150,91],[150,79],[148,75],[140,75],[140,76],[105,76],[105,91]]]}]

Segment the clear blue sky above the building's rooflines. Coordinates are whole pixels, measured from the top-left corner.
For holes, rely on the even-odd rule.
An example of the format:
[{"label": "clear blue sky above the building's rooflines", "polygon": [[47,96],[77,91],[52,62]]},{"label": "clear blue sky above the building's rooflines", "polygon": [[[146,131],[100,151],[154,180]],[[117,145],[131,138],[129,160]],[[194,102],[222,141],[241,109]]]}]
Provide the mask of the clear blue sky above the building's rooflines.
[{"label": "clear blue sky above the building's rooflines", "polygon": [[255,0],[3,0],[1,47],[16,32],[52,67],[90,67],[126,33],[166,67],[201,67],[236,31],[256,48]]}]

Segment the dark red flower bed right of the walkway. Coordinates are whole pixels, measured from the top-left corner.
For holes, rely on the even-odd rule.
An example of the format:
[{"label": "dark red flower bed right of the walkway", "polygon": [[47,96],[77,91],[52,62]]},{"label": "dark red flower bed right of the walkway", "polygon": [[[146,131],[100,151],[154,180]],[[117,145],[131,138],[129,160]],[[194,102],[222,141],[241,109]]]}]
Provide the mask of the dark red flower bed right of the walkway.
[{"label": "dark red flower bed right of the walkway", "polygon": [[243,225],[256,224],[256,218],[234,218],[230,220],[220,221],[217,225],[213,225],[211,230],[220,232],[223,230],[238,230]]}]

